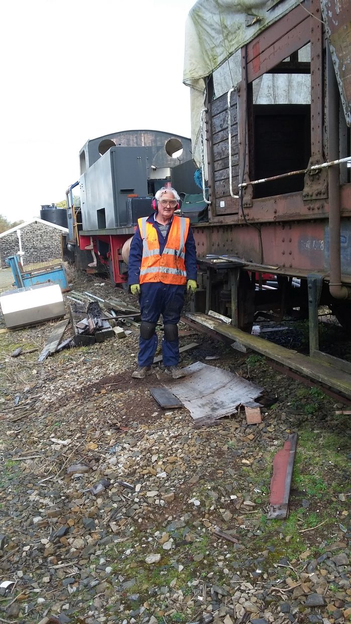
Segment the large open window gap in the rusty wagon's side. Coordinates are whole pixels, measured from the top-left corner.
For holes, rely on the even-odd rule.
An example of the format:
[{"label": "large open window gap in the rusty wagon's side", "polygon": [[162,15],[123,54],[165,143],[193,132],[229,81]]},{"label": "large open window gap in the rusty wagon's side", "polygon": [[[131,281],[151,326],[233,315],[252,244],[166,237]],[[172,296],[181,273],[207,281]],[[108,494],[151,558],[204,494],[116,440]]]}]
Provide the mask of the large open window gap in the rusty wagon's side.
[{"label": "large open window gap in the rusty wagon's side", "polygon": [[[250,177],[307,167],[310,158],[310,45],[252,82]],[[252,187],[254,198],[302,191],[304,174]]]}]

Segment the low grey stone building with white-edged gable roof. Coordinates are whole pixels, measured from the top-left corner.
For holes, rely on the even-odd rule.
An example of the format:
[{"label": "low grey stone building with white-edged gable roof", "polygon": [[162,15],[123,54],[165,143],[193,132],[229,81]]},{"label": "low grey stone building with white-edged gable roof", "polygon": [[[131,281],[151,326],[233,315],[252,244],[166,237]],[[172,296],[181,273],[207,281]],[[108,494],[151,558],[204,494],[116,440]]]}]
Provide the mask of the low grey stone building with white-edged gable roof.
[{"label": "low grey stone building with white-edged gable roof", "polygon": [[16,253],[22,255],[23,265],[48,262],[62,257],[61,235],[67,228],[34,218],[0,234],[1,268],[5,258]]}]

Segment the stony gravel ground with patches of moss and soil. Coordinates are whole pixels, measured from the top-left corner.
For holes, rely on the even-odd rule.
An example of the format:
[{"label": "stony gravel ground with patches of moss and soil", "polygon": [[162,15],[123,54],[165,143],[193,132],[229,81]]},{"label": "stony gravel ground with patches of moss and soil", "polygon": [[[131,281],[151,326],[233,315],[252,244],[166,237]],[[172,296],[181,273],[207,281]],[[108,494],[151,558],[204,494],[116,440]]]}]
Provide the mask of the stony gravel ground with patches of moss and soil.
[{"label": "stony gravel ground with patches of moss and soil", "polygon": [[[77,276],[74,289],[136,305],[101,284]],[[199,346],[181,366],[264,388],[261,424],[239,412],[195,429],[188,410],[151,396],[160,366],[132,379],[138,327],[39,363],[53,325],[1,334],[0,622],[349,621],[345,406],[190,330],[181,346]],[[303,349],[305,327],[287,332],[277,339]],[[19,346],[37,351],[11,358]],[[292,432],[290,514],[268,520],[272,460]]]}]

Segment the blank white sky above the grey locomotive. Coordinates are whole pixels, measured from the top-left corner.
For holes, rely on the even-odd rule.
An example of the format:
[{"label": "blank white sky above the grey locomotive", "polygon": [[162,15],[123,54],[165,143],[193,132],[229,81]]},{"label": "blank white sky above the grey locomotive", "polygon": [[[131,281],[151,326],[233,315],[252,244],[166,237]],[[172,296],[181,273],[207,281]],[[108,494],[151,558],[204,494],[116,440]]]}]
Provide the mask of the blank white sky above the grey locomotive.
[{"label": "blank white sky above the grey locomotive", "polygon": [[119,130],[190,137],[182,84],[195,0],[5,0],[0,214],[39,216],[79,178],[88,139]]}]

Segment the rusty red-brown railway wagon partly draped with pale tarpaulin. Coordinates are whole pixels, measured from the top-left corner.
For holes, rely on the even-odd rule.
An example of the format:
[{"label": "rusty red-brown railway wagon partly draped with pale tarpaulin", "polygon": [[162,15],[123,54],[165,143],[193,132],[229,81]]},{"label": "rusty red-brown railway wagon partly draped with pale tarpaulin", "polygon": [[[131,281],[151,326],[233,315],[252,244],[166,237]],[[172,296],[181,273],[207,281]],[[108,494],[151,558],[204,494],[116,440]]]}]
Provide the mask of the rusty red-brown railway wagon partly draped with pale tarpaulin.
[{"label": "rusty red-brown railway wagon partly draped with pale tarpaulin", "polygon": [[[351,329],[351,3],[198,0],[184,82],[209,205],[189,320],[351,396],[318,334],[319,305]],[[310,358],[243,333],[264,310],[309,318]]]}]

